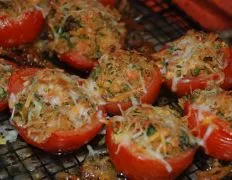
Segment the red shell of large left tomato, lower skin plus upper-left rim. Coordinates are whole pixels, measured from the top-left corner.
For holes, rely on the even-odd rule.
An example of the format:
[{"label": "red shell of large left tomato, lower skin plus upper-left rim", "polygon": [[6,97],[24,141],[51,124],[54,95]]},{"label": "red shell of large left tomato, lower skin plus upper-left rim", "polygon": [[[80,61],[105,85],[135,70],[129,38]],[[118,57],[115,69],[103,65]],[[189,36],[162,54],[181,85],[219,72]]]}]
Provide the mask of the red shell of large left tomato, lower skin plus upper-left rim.
[{"label": "red shell of large left tomato, lower skin plus upper-left rim", "polygon": [[[10,93],[18,93],[23,89],[23,83],[28,77],[35,75],[39,69],[28,68],[16,71],[12,74],[9,85]],[[103,108],[99,108],[99,111],[103,111]],[[98,111],[97,111],[98,112]],[[80,129],[71,131],[56,131],[51,134],[44,142],[38,143],[32,140],[28,136],[29,128],[23,128],[14,122],[14,126],[18,130],[20,136],[33,146],[39,147],[48,152],[68,152],[77,149],[84,144],[88,143],[96,134],[101,130],[103,123],[97,116],[97,112],[94,115],[94,120],[91,124],[86,124]],[[105,113],[103,113],[105,116]]]}]

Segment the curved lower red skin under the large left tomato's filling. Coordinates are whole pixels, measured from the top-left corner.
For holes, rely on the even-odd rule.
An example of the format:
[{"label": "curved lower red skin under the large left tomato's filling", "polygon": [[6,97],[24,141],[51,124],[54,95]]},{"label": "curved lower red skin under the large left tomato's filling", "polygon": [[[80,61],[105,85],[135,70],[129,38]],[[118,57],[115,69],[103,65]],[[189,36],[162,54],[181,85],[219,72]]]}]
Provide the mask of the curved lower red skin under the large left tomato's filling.
[{"label": "curved lower red skin under the large left tomato's filling", "polygon": [[28,143],[47,152],[70,152],[87,144],[101,130],[103,123],[96,117],[91,125],[73,131],[56,131],[44,142],[38,143],[28,136],[29,129],[19,127],[15,122],[19,135]]}]

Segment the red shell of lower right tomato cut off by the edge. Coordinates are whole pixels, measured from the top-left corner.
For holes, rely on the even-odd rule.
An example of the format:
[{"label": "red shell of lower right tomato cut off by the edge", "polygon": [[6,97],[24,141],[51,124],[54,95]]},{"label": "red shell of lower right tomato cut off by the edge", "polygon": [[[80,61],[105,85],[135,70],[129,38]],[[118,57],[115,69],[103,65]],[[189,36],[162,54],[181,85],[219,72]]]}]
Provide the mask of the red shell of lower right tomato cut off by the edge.
[{"label": "red shell of lower right tomato cut off by the edge", "polygon": [[205,120],[198,119],[199,110],[185,104],[188,127],[201,141],[206,154],[222,160],[232,160],[232,131],[230,124],[210,112],[201,112]]}]

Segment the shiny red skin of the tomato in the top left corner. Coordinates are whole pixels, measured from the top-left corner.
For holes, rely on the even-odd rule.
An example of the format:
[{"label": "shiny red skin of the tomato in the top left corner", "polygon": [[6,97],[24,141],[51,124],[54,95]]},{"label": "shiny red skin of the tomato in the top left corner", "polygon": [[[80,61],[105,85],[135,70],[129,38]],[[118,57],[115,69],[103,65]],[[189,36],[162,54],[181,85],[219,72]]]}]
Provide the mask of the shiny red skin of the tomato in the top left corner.
[{"label": "shiny red skin of the tomato in the top left corner", "polygon": [[17,18],[0,17],[0,46],[14,47],[31,43],[42,30],[44,17],[41,11],[27,11]]}]

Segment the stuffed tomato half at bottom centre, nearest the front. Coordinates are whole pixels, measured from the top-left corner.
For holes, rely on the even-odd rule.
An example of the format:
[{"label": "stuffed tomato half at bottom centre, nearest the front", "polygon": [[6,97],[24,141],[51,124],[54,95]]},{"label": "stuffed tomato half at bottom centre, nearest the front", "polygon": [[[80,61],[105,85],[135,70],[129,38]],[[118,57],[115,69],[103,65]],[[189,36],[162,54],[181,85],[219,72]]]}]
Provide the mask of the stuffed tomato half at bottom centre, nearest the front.
[{"label": "stuffed tomato half at bottom centre, nearest the front", "polygon": [[107,124],[112,163],[129,179],[174,179],[191,163],[196,141],[168,106],[133,106]]}]

